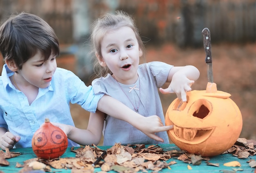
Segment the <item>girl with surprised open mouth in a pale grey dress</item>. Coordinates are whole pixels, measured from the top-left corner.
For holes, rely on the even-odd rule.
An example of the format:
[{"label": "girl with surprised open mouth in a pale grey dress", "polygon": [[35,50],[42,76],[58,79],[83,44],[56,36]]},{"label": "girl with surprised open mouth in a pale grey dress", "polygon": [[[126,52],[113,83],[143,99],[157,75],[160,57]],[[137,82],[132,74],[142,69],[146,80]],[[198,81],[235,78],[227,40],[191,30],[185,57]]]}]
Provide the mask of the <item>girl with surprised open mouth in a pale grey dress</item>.
[{"label": "girl with surprised open mouth in a pale grey dress", "polygon": [[[180,100],[186,101],[186,92],[191,91],[191,85],[200,75],[194,66],[175,67],[158,61],[139,65],[140,58],[145,55],[144,44],[134,21],[122,11],[106,14],[95,21],[91,40],[97,57],[94,69],[100,76],[92,82],[94,92],[110,95],[145,117],[158,115],[162,124],[164,114],[158,88],[171,82],[168,88],[160,88],[160,92],[175,92]],[[169,143],[166,131],[156,133],[160,140],[154,140],[123,120],[100,111],[91,113],[88,130],[95,135],[96,145],[101,139],[102,128],[103,145]],[[83,140],[87,137],[81,137],[83,130],[71,127],[64,131],[70,139],[88,145]]]}]

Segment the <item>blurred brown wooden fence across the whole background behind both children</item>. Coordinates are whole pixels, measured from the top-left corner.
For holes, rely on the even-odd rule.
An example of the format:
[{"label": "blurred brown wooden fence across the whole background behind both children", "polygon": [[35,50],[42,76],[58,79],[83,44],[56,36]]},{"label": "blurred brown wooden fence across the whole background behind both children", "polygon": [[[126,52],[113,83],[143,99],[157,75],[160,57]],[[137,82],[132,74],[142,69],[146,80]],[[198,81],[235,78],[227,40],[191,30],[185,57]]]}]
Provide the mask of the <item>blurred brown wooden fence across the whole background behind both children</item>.
[{"label": "blurred brown wooden fence across the whole background behind both children", "polygon": [[[61,44],[74,42],[74,0],[0,0],[0,19],[12,12],[39,15],[56,31]],[[179,46],[202,46],[202,29],[211,31],[212,43],[256,41],[256,0],[114,0],[116,9],[130,13],[144,41],[173,42]],[[93,21],[110,1],[88,0]],[[85,16],[85,18],[88,16]]]}]

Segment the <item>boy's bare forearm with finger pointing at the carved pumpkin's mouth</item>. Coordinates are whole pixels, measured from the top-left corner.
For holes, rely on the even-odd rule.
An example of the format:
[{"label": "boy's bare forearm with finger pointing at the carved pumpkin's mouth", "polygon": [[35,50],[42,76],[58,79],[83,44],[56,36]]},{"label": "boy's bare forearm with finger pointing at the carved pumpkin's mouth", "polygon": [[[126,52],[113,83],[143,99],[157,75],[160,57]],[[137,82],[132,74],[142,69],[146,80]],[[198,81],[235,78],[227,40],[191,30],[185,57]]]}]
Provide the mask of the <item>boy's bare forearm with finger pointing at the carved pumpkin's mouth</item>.
[{"label": "boy's bare forearm with finger pointing at the carved pumpkin's mouth", "polygon": [[132,126],[157,141],[164,142],[164,140],[155,135],[155,133],[173,129],[172,125],[164,126],[159,116],[153,115],[144,117],[106,94],[99,100],[97,109],[114,118],[130,123]]}]

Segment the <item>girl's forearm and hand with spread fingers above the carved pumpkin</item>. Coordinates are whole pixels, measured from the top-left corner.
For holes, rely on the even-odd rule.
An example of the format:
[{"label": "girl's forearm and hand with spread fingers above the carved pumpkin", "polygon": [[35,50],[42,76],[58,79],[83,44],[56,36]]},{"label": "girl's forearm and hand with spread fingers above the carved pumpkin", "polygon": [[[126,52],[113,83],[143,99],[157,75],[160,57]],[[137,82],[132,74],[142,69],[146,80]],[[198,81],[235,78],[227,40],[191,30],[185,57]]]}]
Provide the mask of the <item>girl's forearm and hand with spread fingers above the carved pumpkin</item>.
[{"label": "girl's forearm and hand with spread fingers above the carved pumpkin", "polygon": [[176,93],[178,99],[186,101],[186,92],[191,91],[191,85],[199,78],[200,72],[194,66],[171,68],[166,82],[171,82],[168,88],[160,88],[162,94]]}]

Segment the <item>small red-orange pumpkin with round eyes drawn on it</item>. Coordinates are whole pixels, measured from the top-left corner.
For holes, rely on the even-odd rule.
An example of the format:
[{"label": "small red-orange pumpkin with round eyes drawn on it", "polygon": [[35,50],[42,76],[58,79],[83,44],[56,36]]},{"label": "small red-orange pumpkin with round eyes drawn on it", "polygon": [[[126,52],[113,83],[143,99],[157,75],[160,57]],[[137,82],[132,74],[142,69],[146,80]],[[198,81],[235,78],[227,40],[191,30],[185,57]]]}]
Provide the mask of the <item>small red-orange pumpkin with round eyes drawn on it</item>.
[{"label": "small red-orange pumpkin with round eyes drawn on it", "polygon": [[32,137],[32,149],[38,158],[54,159],[67,149],[67,136],[59,127],[52,125],[48,118]]}]

